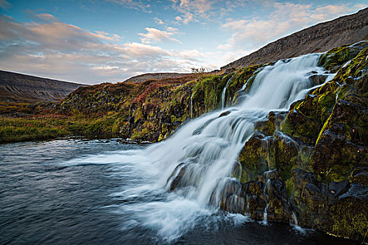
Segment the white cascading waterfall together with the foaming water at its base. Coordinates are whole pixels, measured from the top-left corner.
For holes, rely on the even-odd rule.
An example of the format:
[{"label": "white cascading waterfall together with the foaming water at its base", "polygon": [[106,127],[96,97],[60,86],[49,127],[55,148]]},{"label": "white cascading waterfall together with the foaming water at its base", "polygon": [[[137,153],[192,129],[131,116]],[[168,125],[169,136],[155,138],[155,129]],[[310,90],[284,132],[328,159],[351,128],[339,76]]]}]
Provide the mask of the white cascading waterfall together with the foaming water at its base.
[{"label": "white cascading waterfall together with the foaming water at its base", "polygon": [[[216,219],[211,214],[219,207],[226,180],[233,179],[233,165],[252,135],[254,123],[264,120],[269,111],[287,110],[292,102],[306,96],[313,86],[306,74],[323,72],[317,67],[319,57],[304,55],[264,67],[254,78],[243,102],[191,120],[166,141],[144,150],[94,157],[93,162],[129,162],[139,176],[134,188],[116,195],[139,197],[161,193],[165,196],[165,200],[123,204],[122,214],[129,212],[130,217],[135,217],[124,221],[124,229],[143,225],[172,241],[193,228],[198,219],[209,222]],[[231,113],[219,118],[227,110]],[[168,192],[183,168],[175,192]],[[240,215],[229,215],[229,219],[233,223],[247,221]]]}]

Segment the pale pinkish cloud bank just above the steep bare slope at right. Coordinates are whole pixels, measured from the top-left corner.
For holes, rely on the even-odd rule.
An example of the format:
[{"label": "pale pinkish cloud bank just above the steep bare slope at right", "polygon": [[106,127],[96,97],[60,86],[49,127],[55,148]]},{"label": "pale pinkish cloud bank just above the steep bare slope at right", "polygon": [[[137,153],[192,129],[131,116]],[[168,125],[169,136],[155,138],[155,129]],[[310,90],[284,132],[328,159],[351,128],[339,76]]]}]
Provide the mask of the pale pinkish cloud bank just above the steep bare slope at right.
[{"label": "pale pinkish cloud bank just above the steep bare slope at right", "polygon": [[222,29],[233,34],[218,45],[222,50],[257,50],[268,42],[275,41],[294,31],[304,29],[318,22],[332,20],[340,15],[358,10],[350,4],[314,7],[313,4],[264,2],[266,8],[273,11],[266,18],[228,19]]}]

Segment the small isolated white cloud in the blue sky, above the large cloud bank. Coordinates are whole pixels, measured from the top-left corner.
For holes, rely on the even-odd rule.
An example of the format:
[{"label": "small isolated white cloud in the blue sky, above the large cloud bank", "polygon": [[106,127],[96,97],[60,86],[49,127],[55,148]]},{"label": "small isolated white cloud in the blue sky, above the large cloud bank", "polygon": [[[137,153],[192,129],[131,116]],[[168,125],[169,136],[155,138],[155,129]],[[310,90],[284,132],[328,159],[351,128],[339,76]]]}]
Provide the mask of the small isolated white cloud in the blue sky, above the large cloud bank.
[{"label": "small isolated white cloud in the blue sky, above the large cloud bank", "polygon": [[178,30],[176,28],[167,27],[166,31],[161,31],[156,28],[149,28],[146,27],[145,30],[147,31],[146,34],[139,33],[141,37],[142,43],[158,43],[158,42],[165,42],[165,41],[175,41],[177,43],[181,43],[181,41],[172,38],[171,36],[178,34]]}]

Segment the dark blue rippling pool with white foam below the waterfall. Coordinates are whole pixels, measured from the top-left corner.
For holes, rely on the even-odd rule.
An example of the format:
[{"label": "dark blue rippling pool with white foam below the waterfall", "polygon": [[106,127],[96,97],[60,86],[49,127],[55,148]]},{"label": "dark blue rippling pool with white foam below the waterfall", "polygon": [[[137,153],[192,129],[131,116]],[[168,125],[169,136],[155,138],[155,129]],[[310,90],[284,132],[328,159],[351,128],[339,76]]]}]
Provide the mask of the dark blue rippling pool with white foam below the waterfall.
[{"label": "dark blue rippling pool with white foam below the waterfall", "polygon": [[151,166],[129,160],[144,147],[73,139],[0,145],[0,244],[351,243],[157,189]]}]

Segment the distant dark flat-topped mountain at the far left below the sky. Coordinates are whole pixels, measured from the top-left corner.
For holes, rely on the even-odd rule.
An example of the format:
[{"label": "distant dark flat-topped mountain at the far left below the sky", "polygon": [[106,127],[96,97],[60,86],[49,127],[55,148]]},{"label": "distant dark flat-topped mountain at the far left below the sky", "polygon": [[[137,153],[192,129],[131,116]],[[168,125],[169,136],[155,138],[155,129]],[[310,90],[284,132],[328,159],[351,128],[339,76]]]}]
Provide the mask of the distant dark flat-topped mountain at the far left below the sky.
[{"label": "distant dark flat-topped mountain at the far left below the sky", "polygon": [[0,71],[0,102],[57,102],[86,85]]}]

